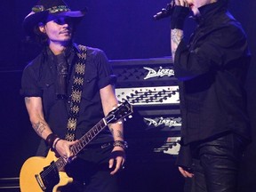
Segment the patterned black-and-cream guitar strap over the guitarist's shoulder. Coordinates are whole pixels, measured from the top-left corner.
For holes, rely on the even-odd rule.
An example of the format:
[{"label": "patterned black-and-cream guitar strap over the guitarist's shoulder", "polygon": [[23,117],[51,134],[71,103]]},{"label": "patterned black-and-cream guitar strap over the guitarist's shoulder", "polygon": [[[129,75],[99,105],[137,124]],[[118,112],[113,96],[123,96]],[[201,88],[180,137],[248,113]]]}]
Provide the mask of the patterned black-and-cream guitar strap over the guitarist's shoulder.
[{"label": "patterned black-and-cream guitar strap over the guitarist's shoulder", "polygon": [[70,107],[65,140],[73,141],[76,137],[76,122],[79,115],[79,107],[82,99],[85,61],[87,49],[84,45],[78,45],[80,52],[77,52],[78,60],[75,64],[75,75],[73,77],[72,90],[70,95]]}]

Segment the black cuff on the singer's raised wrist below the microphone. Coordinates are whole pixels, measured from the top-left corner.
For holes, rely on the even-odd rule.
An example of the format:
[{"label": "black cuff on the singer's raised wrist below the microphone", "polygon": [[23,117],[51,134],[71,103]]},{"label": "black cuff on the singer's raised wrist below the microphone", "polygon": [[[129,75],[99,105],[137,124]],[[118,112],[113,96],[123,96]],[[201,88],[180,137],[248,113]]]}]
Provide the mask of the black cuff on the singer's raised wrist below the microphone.
[{"label": "black cuff on the singer's raised wrist below the microphone", "polygon": [[183,29],[184,21],[188,16],[188,13],[188,7],[176,5],[171,16],[171,28]]}]

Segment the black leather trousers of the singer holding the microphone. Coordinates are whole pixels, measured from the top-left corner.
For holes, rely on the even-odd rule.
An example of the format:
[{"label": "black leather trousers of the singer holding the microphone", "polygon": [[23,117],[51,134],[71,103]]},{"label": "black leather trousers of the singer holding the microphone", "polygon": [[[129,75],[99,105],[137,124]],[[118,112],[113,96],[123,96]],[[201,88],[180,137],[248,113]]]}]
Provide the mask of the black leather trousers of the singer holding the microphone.
[{"label": "black leather trousers of the singer holding the microphone", "polygon": [[236,192],[244,146],[244,140],[234,133],[191,146],[194,177],[187,191]]}]

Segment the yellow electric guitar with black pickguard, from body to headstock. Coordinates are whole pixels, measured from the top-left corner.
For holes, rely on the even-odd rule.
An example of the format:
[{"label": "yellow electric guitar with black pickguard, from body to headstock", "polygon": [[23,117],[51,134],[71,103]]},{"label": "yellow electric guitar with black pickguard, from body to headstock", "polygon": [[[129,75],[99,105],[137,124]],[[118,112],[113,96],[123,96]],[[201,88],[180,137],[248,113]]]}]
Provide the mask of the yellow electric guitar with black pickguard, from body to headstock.
[{"label": "yellow electric guitar with black pickguard, from body to headstock", "polygon": [[[132,114],[132,106],[127,100],[108,113],[100,122],[92,127],[89,132],[78,140],[70,149],[76,156],[99,132],[108,124],[113,124],[125,116]],[[60,192],[61,187],[73,181],[66,172],[63,172],[67,160],[57,158],[51,150],[46,157],[33,156],[22,165],[20,170],[21,192]]]}]

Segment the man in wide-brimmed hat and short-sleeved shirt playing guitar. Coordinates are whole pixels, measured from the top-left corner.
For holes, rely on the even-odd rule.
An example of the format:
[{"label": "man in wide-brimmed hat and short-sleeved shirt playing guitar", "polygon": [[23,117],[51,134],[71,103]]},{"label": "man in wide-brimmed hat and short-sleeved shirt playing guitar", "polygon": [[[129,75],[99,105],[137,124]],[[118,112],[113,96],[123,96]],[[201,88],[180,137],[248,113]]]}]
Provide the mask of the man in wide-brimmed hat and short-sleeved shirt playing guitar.
[{"label": "man in wide-brimmed hat and short-sleeved shirt playing guitar", "polygon": [[43,51],[24,69],[21,94],[43,139],[37,155],[52,148],[72,159],[65,170],[74,182],[61,191],[115,192],[127,148],[122,124],[110,124],[75,159],[70,150],[117,105],[116,76],[104,52],[72,42],[83,17],[84,11],[73,12],[62,0],[41,0],[33,7],[23,25]]}]

